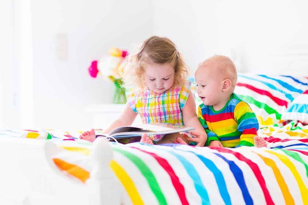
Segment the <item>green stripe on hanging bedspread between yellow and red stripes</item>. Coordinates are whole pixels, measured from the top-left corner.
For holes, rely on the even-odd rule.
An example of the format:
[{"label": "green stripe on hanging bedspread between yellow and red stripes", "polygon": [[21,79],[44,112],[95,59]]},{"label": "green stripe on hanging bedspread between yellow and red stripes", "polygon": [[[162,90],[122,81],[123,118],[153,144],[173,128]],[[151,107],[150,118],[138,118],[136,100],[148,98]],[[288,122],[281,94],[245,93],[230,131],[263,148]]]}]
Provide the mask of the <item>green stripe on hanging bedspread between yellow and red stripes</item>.
[{"label": "green stripe on hanging bedspread between yellow and red stripes", "polygon": [[156,199],[158,200],[159,204],[167,204],[166,198],[163,192],[158,185],[158,182],[153,174],[153,172],[148,168],[146,164],[137,156],[133,155],[132,153],[119,149],[119,148],[112,148],[116,152],[120,152],[122,155],[126,156],[129,160],[131,160],[141,171],[142,175],[147,179],[148,184],[155,195]]}]

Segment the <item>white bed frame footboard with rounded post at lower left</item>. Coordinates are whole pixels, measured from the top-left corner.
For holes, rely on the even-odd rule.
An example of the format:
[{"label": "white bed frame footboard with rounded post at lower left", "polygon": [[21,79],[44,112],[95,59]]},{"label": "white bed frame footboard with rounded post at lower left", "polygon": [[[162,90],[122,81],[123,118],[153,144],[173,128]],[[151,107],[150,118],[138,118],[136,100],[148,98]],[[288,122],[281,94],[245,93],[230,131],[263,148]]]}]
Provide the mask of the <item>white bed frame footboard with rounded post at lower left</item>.
[{"label": "white bed frame footboard with rounded post at lower left", "polygon": [[113,153],[105,139],[95,140],[86,183],[56,167],[49,153],[53,146],[48,140],[0,137],[0,204],[121,204],[124,188],[109,168]]}]

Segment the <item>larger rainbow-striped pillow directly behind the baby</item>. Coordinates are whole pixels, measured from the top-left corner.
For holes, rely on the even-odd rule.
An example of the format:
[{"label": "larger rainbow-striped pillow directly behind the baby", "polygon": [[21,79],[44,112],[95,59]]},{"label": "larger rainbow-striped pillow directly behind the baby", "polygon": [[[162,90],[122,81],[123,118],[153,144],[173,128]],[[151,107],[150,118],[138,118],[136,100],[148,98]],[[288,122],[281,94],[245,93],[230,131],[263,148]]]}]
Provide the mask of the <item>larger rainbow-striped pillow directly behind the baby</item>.
[{"label": "larger rainbow-striped pillow directly behind the baby", "polygon": [[250,105],[260,127],[267,127],[280,123],[288,105],[306,89],[306,77],[239,73],[234,93]]}]

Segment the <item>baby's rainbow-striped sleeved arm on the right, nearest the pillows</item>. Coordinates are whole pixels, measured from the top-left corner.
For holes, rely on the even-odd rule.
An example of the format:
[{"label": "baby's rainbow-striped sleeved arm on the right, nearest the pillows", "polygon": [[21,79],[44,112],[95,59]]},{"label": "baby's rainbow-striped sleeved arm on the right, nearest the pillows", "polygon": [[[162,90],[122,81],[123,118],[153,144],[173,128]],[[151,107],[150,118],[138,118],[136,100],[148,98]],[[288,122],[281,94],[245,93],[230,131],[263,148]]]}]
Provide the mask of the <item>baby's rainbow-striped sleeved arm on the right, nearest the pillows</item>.
[{"label": "baby's rainbow-striped sleeved arm on the right, nearest the pillows", "polygon": [[249,105],[243,101],[239,102],[234,108],[234,118],[238,124],[238,131],[242,132],[240,144],[236,147],[254,146],[253,137],[257,135],[259,123]]}]

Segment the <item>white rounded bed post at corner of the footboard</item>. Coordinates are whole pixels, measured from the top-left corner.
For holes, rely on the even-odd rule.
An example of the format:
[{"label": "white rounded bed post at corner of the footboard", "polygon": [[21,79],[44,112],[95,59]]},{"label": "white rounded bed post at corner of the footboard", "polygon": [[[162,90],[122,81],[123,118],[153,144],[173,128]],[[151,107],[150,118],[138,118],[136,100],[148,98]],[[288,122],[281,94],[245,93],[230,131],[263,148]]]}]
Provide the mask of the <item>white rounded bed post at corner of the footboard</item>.
[{"label": "white rounded bed post at corner of the footboard", "polygon": [[91,204],[120,205],[124,189],[110,168],[113,151],[106,138],[94,141],[90,157],[94,166],[86,183],[91,184],[91,190],[96,189],[89,193],[94,200]]}]

